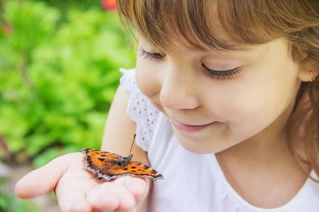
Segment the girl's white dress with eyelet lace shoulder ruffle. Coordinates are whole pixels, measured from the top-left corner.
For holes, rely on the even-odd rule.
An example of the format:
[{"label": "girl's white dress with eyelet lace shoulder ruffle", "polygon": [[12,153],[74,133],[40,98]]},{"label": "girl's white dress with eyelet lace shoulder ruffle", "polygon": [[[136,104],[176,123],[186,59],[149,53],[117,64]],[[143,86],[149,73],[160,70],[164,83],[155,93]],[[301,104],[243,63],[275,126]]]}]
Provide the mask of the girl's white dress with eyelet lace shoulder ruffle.
[{"label": "girl's white dress with eyelet lace shoulder ruffle", "polygon": [[[148,212],[319,212],[319,184],[308,179],[287,204],[273,209],[246,202],[228,184],[215,154],[197,155],[182,148],[168,118],[149,102],[135,81],[135,70],[121,69],[129,91],[127,113],[137,123],[136,143],[151,167],[164,176],[153,183]],[[312,173],[312,176],[317,176]]]}]

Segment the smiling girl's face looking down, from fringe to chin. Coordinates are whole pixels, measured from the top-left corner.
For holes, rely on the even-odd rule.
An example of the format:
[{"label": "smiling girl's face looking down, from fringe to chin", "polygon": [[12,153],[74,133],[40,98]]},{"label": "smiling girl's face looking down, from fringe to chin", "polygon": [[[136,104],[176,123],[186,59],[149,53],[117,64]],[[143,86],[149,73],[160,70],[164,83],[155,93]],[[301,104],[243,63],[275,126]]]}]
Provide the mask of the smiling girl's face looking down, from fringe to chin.
[{"label": "smiling girl's face looking down, from fringe to chin", "polygon": [[300,85],[284,39],[224,52],[175,43],[176,51],[161,55],[140,39],[136,80],[184,148],[217,153],[282,134]]}]

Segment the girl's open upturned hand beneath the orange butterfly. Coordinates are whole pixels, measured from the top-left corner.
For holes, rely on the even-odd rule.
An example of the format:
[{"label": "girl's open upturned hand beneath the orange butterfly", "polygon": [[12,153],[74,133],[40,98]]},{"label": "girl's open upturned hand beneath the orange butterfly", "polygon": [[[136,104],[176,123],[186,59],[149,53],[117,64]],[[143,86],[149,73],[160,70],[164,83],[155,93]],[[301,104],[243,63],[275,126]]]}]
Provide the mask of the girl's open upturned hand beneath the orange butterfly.
[{"label": "girl's open upturned hand beneath the orange butterfly", "polygon": [[16,195],[30,199],[55,190],[63,212],[135,211],[148,192],[148,180],[131,176],[98,180],[83,169],[82,157],[64,155],[26,174],[16,184]]}]

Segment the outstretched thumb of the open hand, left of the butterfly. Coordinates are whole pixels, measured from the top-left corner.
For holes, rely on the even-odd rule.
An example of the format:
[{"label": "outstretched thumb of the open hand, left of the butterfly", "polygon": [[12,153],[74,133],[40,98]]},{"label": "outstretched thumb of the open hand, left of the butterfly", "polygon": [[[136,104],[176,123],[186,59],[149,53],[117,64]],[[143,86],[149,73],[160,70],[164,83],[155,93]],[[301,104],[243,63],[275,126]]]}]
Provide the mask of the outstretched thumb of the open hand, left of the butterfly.
[{"label": "outstretched thumb of the open hand, left of the butterfly", "polygon": [[72,157],[79,160],[81,153],[61,156],[26,174],[15,186],[16,195],[21,199],[30,199],[54,190],[62,174],[67,169],[68,163],[66,161]]}]

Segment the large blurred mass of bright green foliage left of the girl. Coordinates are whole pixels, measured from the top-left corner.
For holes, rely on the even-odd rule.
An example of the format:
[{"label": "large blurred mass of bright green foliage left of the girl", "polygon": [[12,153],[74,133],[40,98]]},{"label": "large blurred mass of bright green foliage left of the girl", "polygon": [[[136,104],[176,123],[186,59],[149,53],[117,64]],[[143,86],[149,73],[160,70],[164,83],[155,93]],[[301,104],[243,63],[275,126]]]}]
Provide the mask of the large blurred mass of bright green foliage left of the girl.
[{"label": "large blurred mass of bright green foliage left of the girl", "polygon": [[118,69],[136,59],[115,13],[93,7],[61,17],[43,2],[3,5],[0,136],[13,154],[36,157],[37,166],[99,148]]}]

